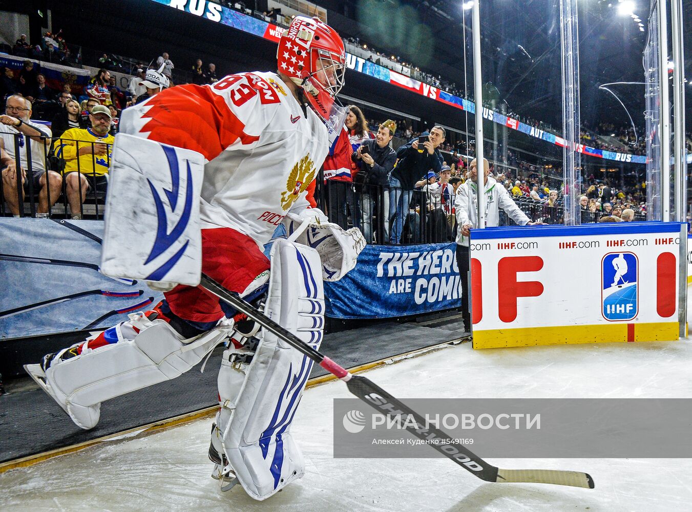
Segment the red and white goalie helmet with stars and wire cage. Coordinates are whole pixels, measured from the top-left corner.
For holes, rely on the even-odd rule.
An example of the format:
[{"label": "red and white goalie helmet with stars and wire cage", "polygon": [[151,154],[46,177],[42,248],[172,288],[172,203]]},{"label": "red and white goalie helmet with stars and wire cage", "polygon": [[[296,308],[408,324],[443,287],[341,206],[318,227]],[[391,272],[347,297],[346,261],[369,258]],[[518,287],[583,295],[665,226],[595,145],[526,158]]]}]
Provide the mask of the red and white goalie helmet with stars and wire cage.
[{"label": "red and white goalie helmet with stars and wire cage", "polygon": [[313,110],[329,120],[346,68],[346,51],[336,30],[318,17],[296,16],[281,36],[276,60],[279,72],[302,86]]}]

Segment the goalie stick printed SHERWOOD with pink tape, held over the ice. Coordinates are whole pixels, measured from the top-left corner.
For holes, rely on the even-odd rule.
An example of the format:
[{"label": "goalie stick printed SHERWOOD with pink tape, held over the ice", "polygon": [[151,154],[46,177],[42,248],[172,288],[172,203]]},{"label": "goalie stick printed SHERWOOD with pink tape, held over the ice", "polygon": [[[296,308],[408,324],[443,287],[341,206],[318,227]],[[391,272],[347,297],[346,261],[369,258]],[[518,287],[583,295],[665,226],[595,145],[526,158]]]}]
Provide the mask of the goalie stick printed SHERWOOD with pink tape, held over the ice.
[{"label": "goalie stick printed SHERWOOD with pink tape, held over the ice", "polygon": [[370,379],[349,374],[345,369],[334,363],[333,360],[329,359],[324,354],[320,354],[320,352],[307,345],[307,343],[302,342],[293,333],[264,316],[263,313],[257,311],[251,304],[239,298],[235,293],[226,290],[223,286],[208,277],[208,275],[202,274],[201,286],[238,311],[245,313],[248,318],[255,320],[255,322],[264,327],[264,329],[275,334],[275,336],[278,336],[284,342],[291,345],[291,347],[297,349],[315,363],[318,363],[318,365],[326,369],[327,372],[340,378],[340,380],[346,383],[349,392],[370,404],[375,410],[383,412],[383,414],[394,416],[401,414],[405,417],[415,419],[416,425],[410,424],[412,423],[411,421],[406,421],[404,423],[408,432],[419,439],[437,441],[430,443],[430,446],[480,479],[486,482],[498,483],[528,482],[533,484],[555,484],[594,488],[594,480],[588,473],[543,469],[501,469],[488,464],[466,447],[455,444],[453,439],[446,435],[445,432],[437,428],[425,426],[426,421],[420,414],[408,408],[403,402],[395,399],[394,396],[370,381]]}]

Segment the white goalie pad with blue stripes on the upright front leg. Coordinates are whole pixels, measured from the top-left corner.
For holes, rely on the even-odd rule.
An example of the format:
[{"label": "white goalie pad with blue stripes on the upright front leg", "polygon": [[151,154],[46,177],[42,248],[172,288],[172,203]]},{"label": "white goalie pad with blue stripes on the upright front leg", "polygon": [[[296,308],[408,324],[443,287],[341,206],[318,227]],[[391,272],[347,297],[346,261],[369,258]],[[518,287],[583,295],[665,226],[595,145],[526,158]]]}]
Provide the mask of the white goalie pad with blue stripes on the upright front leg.
[{"label": "white goalie pad with blue stripes on the upright front leg", "polygon": [[[264,314],[318,348],[324,312],[318,253],[277,240]],[[221,446],[225,455],[219,476],[235,475],[255,500],[266,499],[304,475],[302,454],[291,436],[291,421],[311,368],[309,358],[265,329],[242,379],[242,367],[221,367],[221,408],[212,432],[212,445]]]}]

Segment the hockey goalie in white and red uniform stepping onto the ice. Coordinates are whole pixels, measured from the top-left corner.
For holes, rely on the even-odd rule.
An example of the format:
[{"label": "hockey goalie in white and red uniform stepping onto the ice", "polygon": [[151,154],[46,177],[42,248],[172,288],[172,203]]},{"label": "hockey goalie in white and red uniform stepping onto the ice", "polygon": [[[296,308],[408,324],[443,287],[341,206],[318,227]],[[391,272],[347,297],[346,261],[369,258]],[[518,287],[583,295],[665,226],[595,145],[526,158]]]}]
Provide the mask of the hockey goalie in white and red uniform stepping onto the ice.
[{"label": "hockey goalie in white and red uniform stepping onto the ice", "polygon": [[[365,241],[310,207],[309,185],[345,113],[345,50],[318,18],[295,17],[277,73],[165,89],[122,115],[111,163],[102,269],[164,291],[72,347],[27,365],[81,428],[115,396],[176,378],[224,344],[212,476],[264,500],[304,474],[291,421],[311,361],[197,286],[200,272],[317,348],[322,280],[356,264]],[[288,239],[262,248],[284,223]]]}]

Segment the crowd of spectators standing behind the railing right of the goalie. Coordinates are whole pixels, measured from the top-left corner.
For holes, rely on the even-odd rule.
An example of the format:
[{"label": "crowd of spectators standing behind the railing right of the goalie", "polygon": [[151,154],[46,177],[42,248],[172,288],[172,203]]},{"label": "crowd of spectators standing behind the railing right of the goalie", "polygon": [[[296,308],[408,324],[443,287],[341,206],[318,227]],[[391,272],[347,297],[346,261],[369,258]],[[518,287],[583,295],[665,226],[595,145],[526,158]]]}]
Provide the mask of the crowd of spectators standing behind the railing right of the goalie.
[{"label": "crowd of spectators standing behind the railing right of the goalie", "polygon": [[[349,106],[349,109],[358,110],[354,106]],[[446,143],[446,134],[441,127],[419,134],[412,129],[410,120],[387,120],[385,123],[388,125],[385,131],[394,133],[399,144],[394,145],[397,151],[392,151],[394,163],[382,170],[378,167],[375,174],[389,176],[389,179],[369,181],[365,188],[354,185],[351,191],[355,194],[348,201],[326,194],[327,208],[330,200],[333,201],[340,210],[340,214],[334,217],[335,221],[344,227],[360,227],[368,242],[415,244],[453,241],[457,228],[450,208],[459,185],[466,180],[468,163],[474,155],[473,145],[465,147],[463,140]],[[372,136],[383,131],[383,121],[370,118],[367,127]],[[373,130],[373,127],[377,129]],[[378,133],[378,138],[380,136]],[[423,152],[419,151],[419,143],[422,145],[419,137],[426,140]],[[368,147],[366,153],[372,152],[372,139],[365,137],[363,142],[363,137],[359,137],[359,140],[359,143],[354,143],[354,161],[362,158],[359,144]],[[432,151],[428,152],[428,148]],[[371,163],[370,160],[368,157],[367,163]],[[376,159],[372,159],[372,163],[379,165]],[[366,172],[367,169],[365,166]],[[354,182],[363,181],[361,172],[362,162],[358,170],[352,172]],[[585,168],[583,172],[588,171]],[[576,198],[579,222],[646,220],[643,176],[638,179],[637,174],[619,173],[617,179],[610,179],[606,174],[603,172],[601,176],[599,171],[583,176],[583,196]],[[401,176],[406,178],[402,181]],[[564,185],[560,169],[553,163],[530,162],[522,153],[508,150],[498,160],[491,161],[491,177],[507,190],[531,221],[563,223]],[[329,181],[325,182],[327,190],[330,186],[334,188]],[[344,181],[343,176],[340,181]],[[502,212],[500,217],[501,225],[512,223]]]}]

